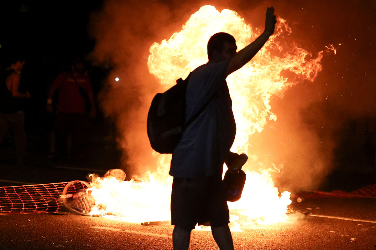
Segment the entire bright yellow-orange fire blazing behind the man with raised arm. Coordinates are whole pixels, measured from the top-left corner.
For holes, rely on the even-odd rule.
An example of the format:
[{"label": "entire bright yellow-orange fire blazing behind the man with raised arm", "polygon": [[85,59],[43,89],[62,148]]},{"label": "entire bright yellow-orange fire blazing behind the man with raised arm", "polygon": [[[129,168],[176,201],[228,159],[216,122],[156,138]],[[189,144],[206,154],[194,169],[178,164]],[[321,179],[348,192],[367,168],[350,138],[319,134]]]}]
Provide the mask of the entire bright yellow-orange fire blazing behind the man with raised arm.
[{"label": "entire bright yellow-orange fire blazing behind the man with raised arm", "polygon": [[[284,45],[284,36],[292,31],[284,19],[277,20],[275,33],[261,51],[227,77],[237,124],[232,151],[249,156],[243,167],[247,181],[242,198],[229,202],[234,221],[232,230],[249,223],[269,224],[288,219],[290,193],[280,193],[274,187],[271,173],[276,168],[273,163],[268,166],[255,164],[258,156],[253,154],[249,139],[253,133],[261,132],[268,120],[276,120],[269,105],[271,96],[282,96],[286,88],[299,81],[313,81],[321,70],[323,51],[314,58],[297,45]],[[244,48],[260,34],[232,10],[219,12],[213,6],[203,6],[191,15],[180,32],[161,43],[153,43],[147,62],[149,71],[160,79],[165,89],[170,88],[176,79],[184,79],[193,69],[207,62],[207,42],[212,34],[221,31],[235,37],[238,49]],[[334,47],[331,45],[327,49],[334,50]],[[295,74],[294,81],[284,76],[286,71]],[[117,215],[123,220],[138,223],[170,220],[172,177],[168,175],[168,169],[171,156],[158,153],[155,156],[159,157],[158,172],[148,173],[147,181],[97,178],[91,193],[97,202],[91,214]]]}]

